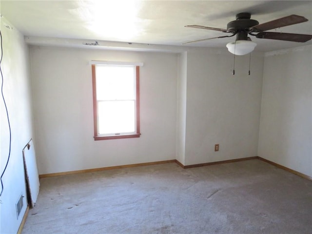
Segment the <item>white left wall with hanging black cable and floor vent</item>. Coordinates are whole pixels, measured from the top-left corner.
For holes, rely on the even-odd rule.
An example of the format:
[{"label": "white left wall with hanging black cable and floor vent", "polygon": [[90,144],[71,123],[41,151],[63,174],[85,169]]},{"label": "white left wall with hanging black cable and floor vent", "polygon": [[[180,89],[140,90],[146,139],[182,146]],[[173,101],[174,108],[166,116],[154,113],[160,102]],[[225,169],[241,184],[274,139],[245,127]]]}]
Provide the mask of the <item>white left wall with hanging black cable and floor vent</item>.
[{"label": "white left wall with hanging black cable and floor vent", "polygon": [[[11,155],[3,174],[0,197],[0,233],[17,233],[27,207],[22,150],[33,136],[29,53],[24,37],[14,25],[0,18],[3,58],[3,95],[6,101],[11,131]],[[12,27],[8,29],[6,26]],[[9,125],[2,97],[0,98],[0,173],[9,154]],[[23,195],[23,208],[17,217],[16,203]]]}]

